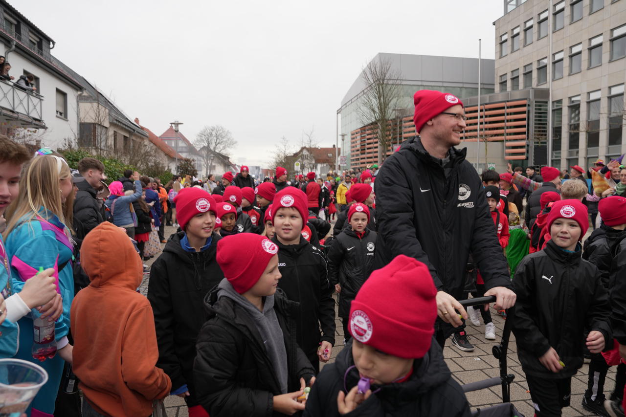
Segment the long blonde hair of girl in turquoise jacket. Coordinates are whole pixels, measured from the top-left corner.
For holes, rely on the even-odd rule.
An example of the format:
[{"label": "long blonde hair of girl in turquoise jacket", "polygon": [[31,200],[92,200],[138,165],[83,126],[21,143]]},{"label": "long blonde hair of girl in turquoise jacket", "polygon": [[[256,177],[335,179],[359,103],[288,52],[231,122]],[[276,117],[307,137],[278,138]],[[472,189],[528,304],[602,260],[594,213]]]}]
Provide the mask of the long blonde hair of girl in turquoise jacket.
[{"label": "long blonde hair of girl in turquoise jacket", "polygon": [[[68,164],[50,155],[40,155],[25,168],[26,174],[19,180],[19,193],[5,212],[7,219],[4,239],[15,229],[23,217],[30,222],[43,207],[55,214],[64,225],[71,227],[74,192],[62,203],[60,181],[71,177]],[[70,229],[71,230],[71,229]]]}]

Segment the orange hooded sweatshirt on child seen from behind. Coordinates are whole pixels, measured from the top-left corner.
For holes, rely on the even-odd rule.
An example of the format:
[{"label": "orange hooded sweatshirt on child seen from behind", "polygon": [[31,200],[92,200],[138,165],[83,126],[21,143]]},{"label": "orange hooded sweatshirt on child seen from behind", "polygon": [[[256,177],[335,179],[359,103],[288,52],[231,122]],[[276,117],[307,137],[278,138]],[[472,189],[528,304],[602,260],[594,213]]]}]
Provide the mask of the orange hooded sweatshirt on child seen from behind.
[{"label": "orange hooded sweatshirt on child seen from behind", "polygon": [[156,368],[155,321],[135,289],[143,267],[126,233],[104,222],[83,240],[81,263],[90,286],[72,302],[73,369],[93,408],[109,416],[146,417],[165,398],[170,378]]}]

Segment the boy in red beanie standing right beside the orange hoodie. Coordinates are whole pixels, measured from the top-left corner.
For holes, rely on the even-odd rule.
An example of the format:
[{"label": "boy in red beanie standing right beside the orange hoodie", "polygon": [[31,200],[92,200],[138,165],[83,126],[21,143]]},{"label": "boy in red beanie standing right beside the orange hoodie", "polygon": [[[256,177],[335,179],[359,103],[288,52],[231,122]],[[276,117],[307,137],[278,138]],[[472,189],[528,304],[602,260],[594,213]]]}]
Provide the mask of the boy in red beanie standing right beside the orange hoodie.
[{"label": "boy in red beanie standing right beside the orange hoodie", "polygon": [[157,365],[172,379],[172,395],[185,398],[190,416],[206,416],[193,384],[193,358],[207,318],[204,297],[224,275],[215,260],[217,204],[206,191],[183,188],[174,199],[182,232],[173,234],[150,269],[148,300],[155,316]]}]

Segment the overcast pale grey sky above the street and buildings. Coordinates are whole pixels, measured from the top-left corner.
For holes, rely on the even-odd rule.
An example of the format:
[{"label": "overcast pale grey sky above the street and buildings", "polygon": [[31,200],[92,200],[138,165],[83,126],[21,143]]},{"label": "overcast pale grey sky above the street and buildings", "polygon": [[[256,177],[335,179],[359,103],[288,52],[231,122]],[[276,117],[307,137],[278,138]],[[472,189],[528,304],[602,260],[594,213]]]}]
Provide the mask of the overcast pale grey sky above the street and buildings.
[{"label": "overcast pale grey sky above the street and buildings", "polygon": [[232,131],[237,163],[267,165],[282,136],[335,143],[335,115],[379,52],[494,56],[502,0],[9,0],[53,54],[156,135],[180,120]]}]

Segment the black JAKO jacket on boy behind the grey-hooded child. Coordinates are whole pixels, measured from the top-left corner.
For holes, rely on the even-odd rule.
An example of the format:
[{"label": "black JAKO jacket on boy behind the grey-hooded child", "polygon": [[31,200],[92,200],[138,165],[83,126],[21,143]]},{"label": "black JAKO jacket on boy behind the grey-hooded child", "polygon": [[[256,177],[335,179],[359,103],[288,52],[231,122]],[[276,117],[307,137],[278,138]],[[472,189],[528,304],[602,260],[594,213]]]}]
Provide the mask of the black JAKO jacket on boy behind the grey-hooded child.
[{"label": "black JAKO jacket on boy behind the grey-hooded child", "polygon": [[317,368],[319,343],[335,344],[335,288],[328,276],[326,258],[304,237],[297,245],[283,245],[275,235],[273,241],[279,247],[278,269],[282,278],[278,286],[287,298],[300,303],[294,315],[298,345]]}]

